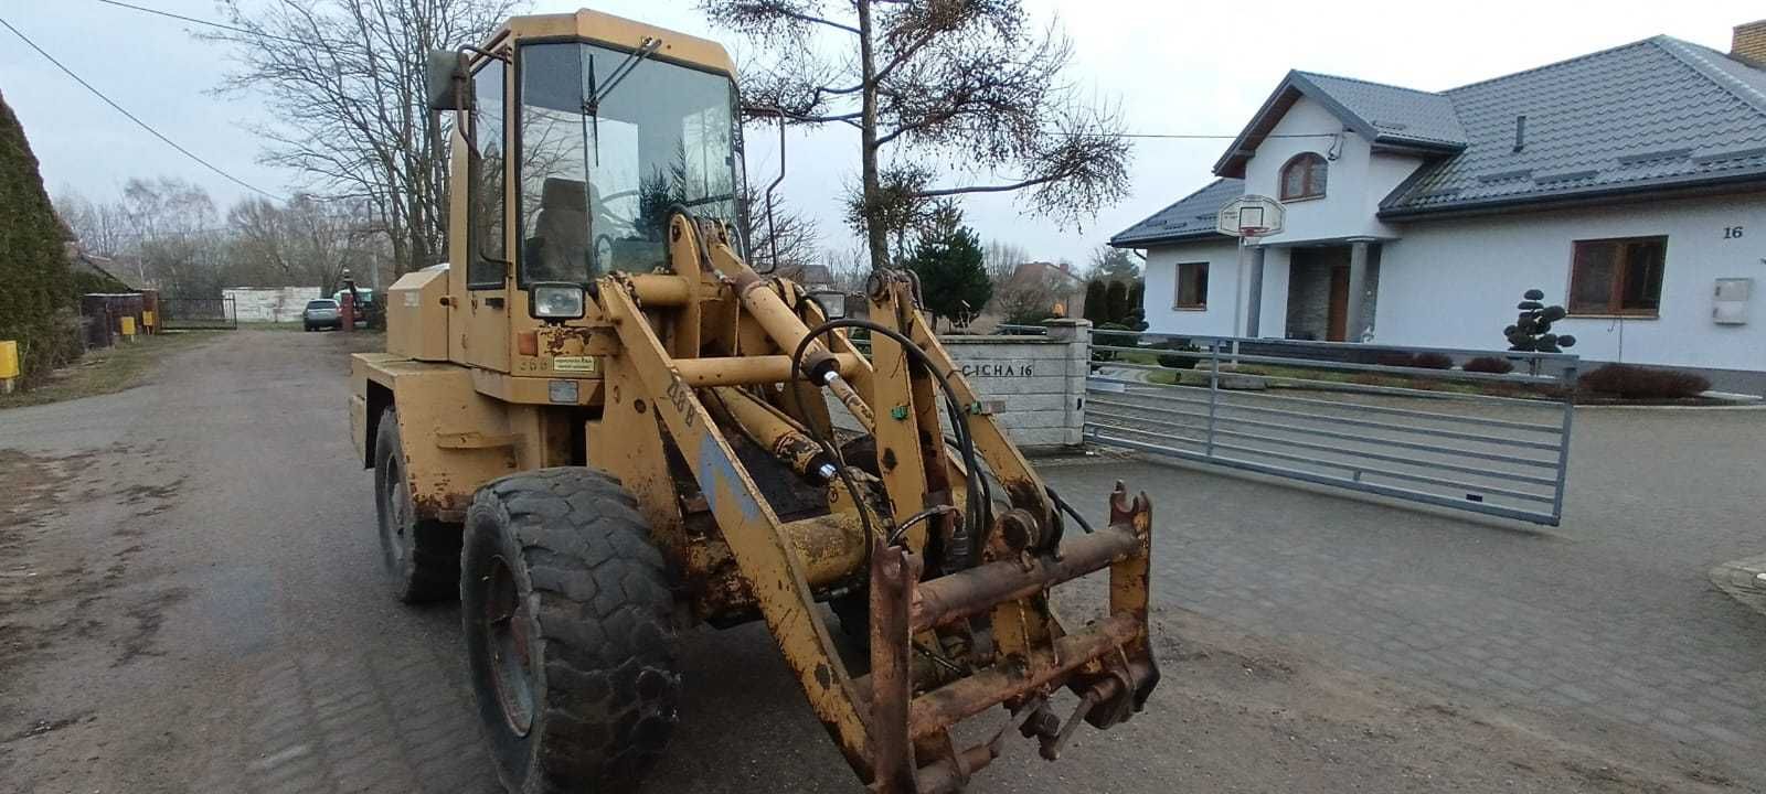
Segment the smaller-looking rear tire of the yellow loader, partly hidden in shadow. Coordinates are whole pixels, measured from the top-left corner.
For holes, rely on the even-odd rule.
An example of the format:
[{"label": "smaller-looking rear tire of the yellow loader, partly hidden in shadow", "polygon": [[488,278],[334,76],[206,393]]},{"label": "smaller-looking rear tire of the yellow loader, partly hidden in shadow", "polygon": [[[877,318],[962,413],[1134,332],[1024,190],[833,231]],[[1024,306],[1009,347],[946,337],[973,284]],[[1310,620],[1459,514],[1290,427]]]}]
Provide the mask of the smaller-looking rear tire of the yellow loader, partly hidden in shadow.
[{"label": "smaller-looking rear tire of the yellow loader, partly hidden in shadow", "polygon": [[397,600],[440,602],[459,593],[459,524],[417,517],[392,406],[380,413],[374,434],[374,519],[381,566]]}]

